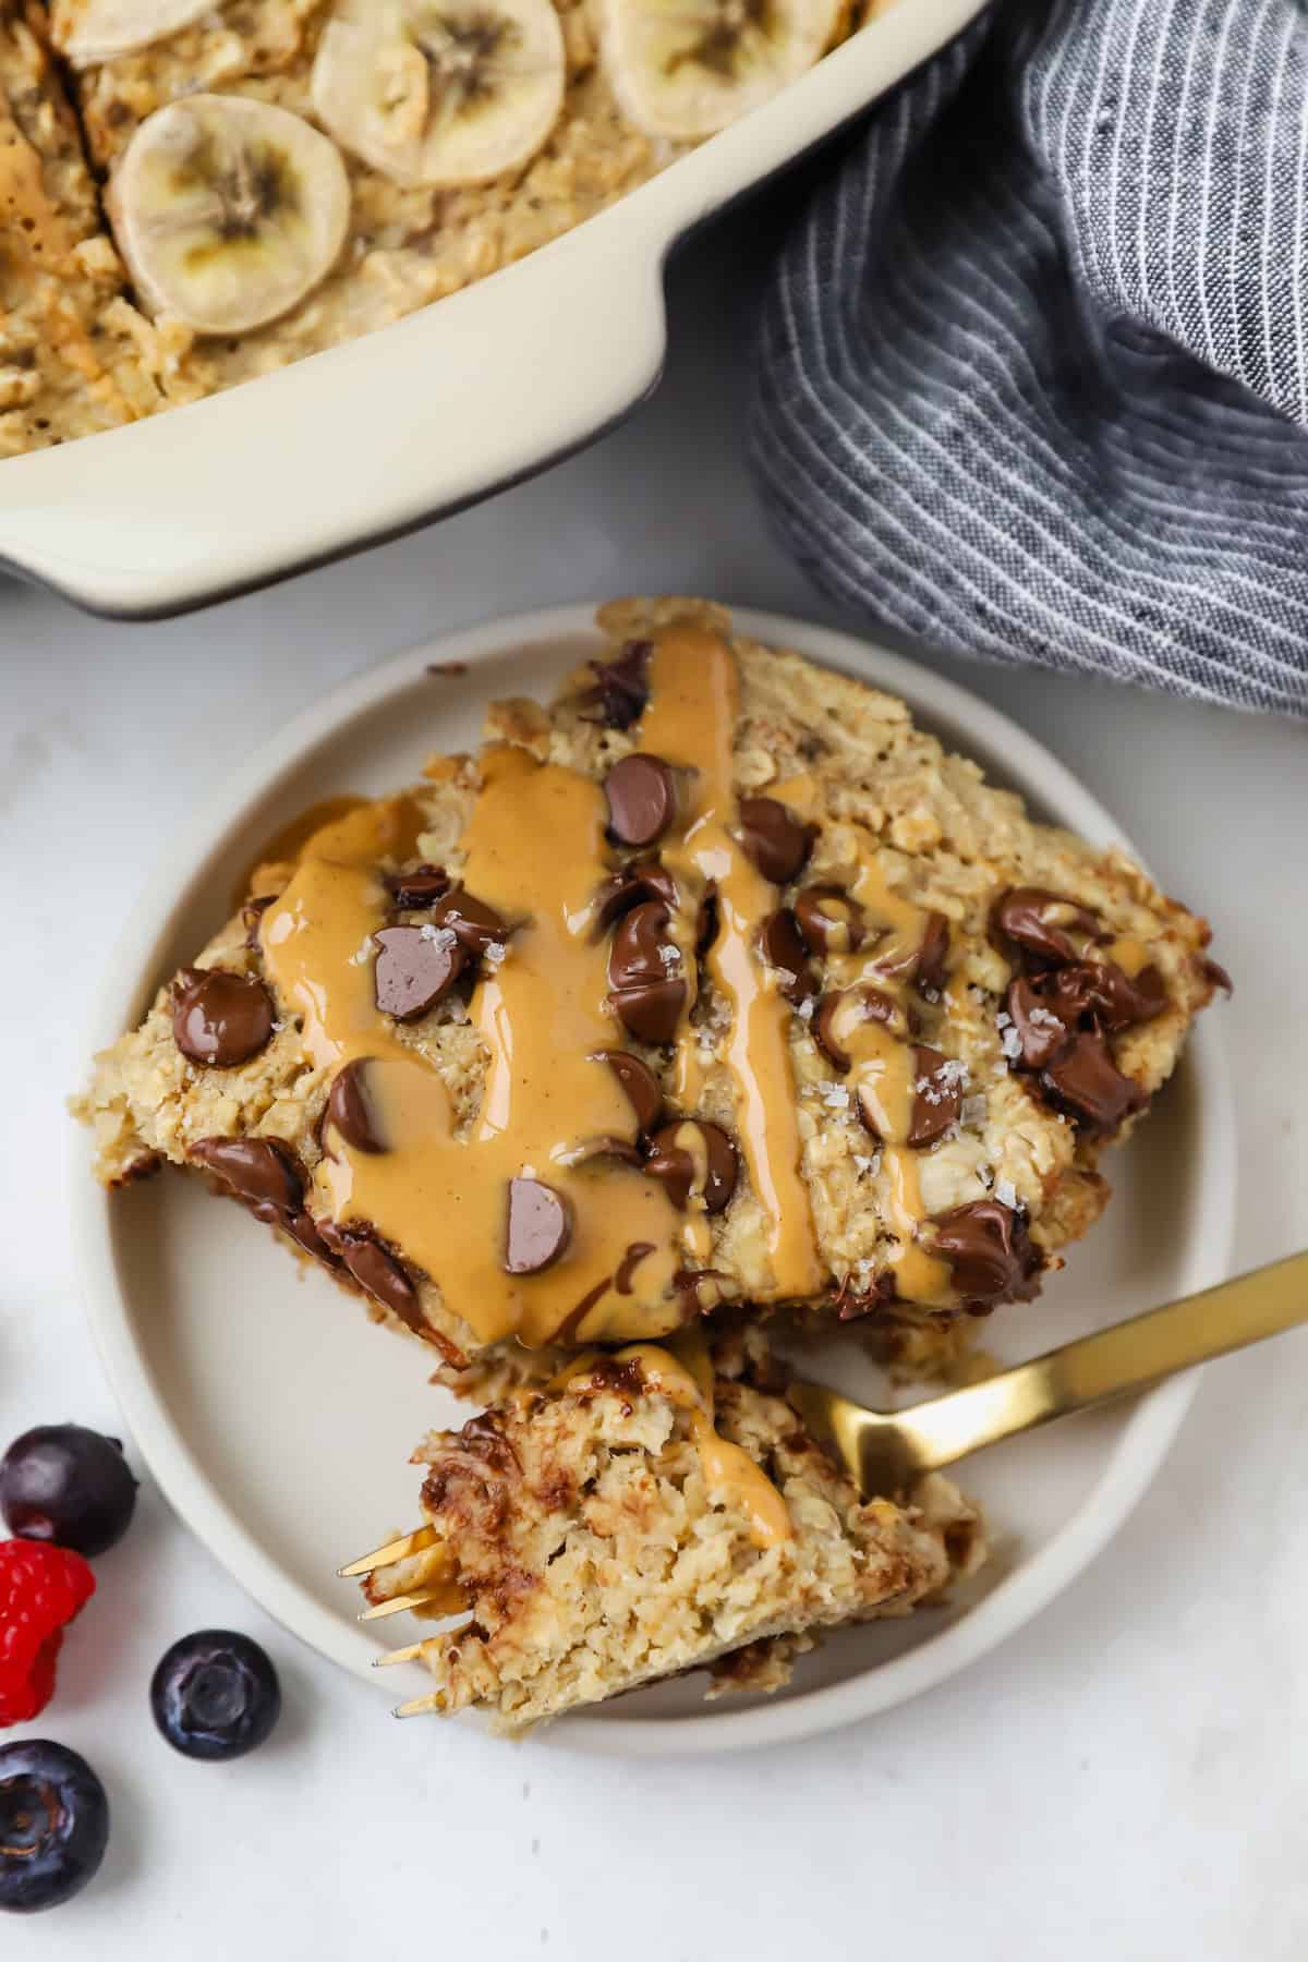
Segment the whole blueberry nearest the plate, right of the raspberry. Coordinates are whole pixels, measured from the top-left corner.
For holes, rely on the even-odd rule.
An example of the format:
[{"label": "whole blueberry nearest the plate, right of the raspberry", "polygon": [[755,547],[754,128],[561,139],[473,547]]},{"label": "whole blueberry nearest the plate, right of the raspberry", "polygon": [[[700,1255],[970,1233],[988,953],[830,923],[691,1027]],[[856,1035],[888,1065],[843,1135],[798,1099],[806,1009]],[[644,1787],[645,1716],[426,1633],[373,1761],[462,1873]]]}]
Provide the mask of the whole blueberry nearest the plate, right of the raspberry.
[{"label": "whole blueberry nearest the plate, right of the raspberry", "polygon": [[277,1670],[247,1634],[202,1628],[175,1642],[155,1670],[149,1707],[184,1758],[243,1758],[280,1717]]}]

